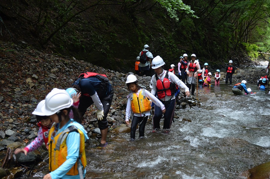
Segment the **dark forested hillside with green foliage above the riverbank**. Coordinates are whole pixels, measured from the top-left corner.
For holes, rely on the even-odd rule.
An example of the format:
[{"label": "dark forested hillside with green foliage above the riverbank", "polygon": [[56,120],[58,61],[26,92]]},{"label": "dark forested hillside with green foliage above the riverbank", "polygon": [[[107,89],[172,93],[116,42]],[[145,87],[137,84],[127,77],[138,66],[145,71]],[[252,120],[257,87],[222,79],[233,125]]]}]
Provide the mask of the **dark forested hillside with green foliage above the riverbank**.
[{"label": "dark forested hillside with green foliage above the riverbank", "polygon": [[270,50],[270,0],[3,0],[0,17],[2,36],[111,69],[132,68],[144,44],[169,63]]}]

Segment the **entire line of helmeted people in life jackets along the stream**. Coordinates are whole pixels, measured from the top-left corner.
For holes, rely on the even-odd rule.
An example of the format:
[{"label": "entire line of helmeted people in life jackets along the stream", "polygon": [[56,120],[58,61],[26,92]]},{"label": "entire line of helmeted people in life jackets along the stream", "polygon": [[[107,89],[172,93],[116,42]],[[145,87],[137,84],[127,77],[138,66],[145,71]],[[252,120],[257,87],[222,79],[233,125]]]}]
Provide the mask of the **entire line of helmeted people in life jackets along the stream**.
[{"label": "entire line of helmeted people in life jackets along the stream", "polygon": [[[125,122],[131,121],[130,140],[136,138],[135,132],[139,126],[139,137],[144,137],[145,126],[148,117],[151,115],[151,106],[155,104],[154,115],[152,117],[153,131],[162,130],[163,133],[170,132],[173,122],[177,95],[182,89],[184,96],[189,97],[190,91],[195,95],[195,84],[200,82],[203,86],[211,86],[211,72],[208,71],[208,63],[204,64],[201,70],[199,60],[196,55],[190,56],[187,60],[187,54],[180,56],[178,63],[178,77],[175,75],[175,65],[170,65],[167,71],[164,69],[165,62],[160,56],[153,58],[149,52],[149,46],[146,44],[136,59],[137,75],[140,70],[144,74],[149,74],[150,68],[155,71],[149,81],[151,92],[141,87],[134,74],[127,77],[126,85],[129,90],[127,94],[127,108]],[[140,63],[137,63],[140,61]],[[232,60],[226,68],[226,83],[229,80],[231,84],[234,67]],[[199,77],[200,76],[200,77]],[[216,70],[215,84],[219,84],[220,70]],[[199,79],[201,78],[201,79]],[[200,81],[201,80],[201,81]],[[185,81],[187,85],[185,84]],[[268,82],[267,76],[258,80],[257,86],[265,88]],[[251,94],[250,88],[246,87],[247,82],[242,80],[233,86],[234,94]],[[87,109],[95,104],[96,118],[98,128],[101,132],[100,147],[106,147],[108,121],[107,115],[113,101],[114,90],[108,77],[105,74],[85,72],[79,75],[70,88],[52,89],[45,99],[38,103],[33,115],[38,121],[38,137],[24,148],[17,148],[15,154],[29,153],[36,150],[43,142],[49,151],[49,171],[44,179],[59,178],[85,178],[86,174],[86,156],[85,141],[88,139],[87,132],[82,126],[83,116]],[[164,115],[163,129],[160,121]]]}]

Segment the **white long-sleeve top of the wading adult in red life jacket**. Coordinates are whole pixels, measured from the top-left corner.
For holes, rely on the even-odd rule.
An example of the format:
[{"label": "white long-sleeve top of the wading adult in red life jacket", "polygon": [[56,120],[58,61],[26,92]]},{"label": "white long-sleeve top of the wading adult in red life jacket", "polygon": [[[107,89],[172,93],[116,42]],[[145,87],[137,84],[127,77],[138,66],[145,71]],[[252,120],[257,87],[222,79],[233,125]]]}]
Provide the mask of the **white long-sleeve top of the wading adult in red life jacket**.
[{"label": "white long-sleeve top of the wading adult in red life jacket", "polygon": [[[163,81],[164,80],[164,77],[166,75],[166,72],[167,72],[166,70],[163,70],[161,74],[158,74],[158,79],[160,79],[161,81]],[[189,89],[185,85],[185,83],[183,83],[181,80],[179,80],[179,78],[175,74],[173,74],[172,72],[170,72],[170,71],[168,73],[168,78],[169,78],[169,81],[170,82],[176,83],[179,86],[179,88],[184,89],[185,92],[189,91]],[[157,88],[157,80],[156,80],[155,74],[152,76],[150,83],[152,84],[151,93],[152,93],[152,95],[155,95],[156,92],[157,92],[157,89],[158,89]],[[162,101],[168,101],[170,99],[175,99],[175,95],[174,94],[173,94],[173,96],[167,96],[166,95],[165,98],[162,98],[160,100],[162,100]]]}]

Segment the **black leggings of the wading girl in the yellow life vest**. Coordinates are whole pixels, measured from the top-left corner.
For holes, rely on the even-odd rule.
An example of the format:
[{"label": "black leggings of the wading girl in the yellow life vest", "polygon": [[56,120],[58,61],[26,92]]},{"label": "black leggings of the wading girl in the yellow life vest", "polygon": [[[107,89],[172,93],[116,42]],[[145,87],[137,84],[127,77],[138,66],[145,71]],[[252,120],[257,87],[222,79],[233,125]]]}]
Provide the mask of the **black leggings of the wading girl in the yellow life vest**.
[{"label": "black leggings of the wading girl in the yellow life vest", "polygon": [[135,139],[135,132],[137,125],[142,122],[139,126],[139,137],[144,137],[144,128],[147,122],[148,116],[133,116],[132,122],[131,122],[131,132],[130,132],[130,138]]}]

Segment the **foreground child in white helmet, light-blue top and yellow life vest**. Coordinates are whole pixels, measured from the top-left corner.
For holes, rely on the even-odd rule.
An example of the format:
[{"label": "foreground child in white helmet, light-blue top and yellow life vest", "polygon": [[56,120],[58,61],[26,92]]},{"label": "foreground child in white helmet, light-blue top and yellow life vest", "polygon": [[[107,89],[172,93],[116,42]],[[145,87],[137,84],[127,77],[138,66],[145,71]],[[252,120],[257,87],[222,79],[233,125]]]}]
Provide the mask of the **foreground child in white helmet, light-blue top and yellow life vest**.
[{"label": "foreground child in white helmet, light-blue top and yellow life vest", "polygon": [[[80,124],[79,111],[72,104],[73,100],[64,89],[53,89],[46,96],[45,104],[41,108],[41,111],[55,122],[49,131],[48,139],[50,173],[46,174],[44,179],[85,177],[84,147],[88,136]],[[74,119],[69,117],[71,110]]]}]

